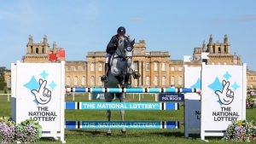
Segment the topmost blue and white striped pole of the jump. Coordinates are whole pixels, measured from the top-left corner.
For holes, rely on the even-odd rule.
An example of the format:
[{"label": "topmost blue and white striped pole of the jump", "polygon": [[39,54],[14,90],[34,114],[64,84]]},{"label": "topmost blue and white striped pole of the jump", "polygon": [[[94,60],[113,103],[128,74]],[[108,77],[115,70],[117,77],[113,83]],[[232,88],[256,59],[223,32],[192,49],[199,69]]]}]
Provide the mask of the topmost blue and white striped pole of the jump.
[{"label": "topmost blue and white striped pole of the jump", "polygon": [[67,88],[67,92],[77,93],[198,93],[201,89],[172,88]]}]

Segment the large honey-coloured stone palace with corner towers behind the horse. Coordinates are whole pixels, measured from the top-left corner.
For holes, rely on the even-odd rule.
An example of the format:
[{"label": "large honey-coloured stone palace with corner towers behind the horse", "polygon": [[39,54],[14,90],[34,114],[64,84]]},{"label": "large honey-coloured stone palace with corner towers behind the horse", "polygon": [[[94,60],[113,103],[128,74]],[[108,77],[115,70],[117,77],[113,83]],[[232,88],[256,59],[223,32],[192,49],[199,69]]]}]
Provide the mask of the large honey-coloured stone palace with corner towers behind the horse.
[{"label": "large honey-coloured stone palace with corner towers behind the horse", "polygon": [[[141,78],[131,78],[132,87],[162,87],[171,85],[183,88],[183,65],[201,66],[201,53],[208,52],[207,64],[211,65],[241,65],[239,55],[230,54],[228,36],[224,35],[223,43],[213,43],[212,35],[209,42],[202,43],[193,52],[193,60],[171,60],[168,51],[147,51],[146,43],[140,40],[134,45],[133,62],[135,71],[141,74]],[[66,60],[66,86],[67,87],[102,87],[101,77],[104,74],[105,51],[90,51],[86,60]],[[48,38],[44,36],[43,43],[33,43],[32,36],[26,45],[24,62],[56,62],[65,60],[65,50],[56,48],[49,49]],[[247,71],[247,86],[256,87],[256,72]]]}]

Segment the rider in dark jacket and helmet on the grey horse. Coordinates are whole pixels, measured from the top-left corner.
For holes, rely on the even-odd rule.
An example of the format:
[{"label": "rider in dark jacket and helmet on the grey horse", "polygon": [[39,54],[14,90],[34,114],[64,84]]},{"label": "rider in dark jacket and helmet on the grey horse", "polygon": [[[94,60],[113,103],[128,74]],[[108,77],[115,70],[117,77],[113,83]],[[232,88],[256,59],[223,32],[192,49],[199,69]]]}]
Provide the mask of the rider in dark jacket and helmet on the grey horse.
[{"label": "rider in dark jacket and helmet on the grey horse", "polygon": [[123,38],[128,40],[128,37],[125,36],[125,27],[119,26],[117,34],[111,37],[111,40],[108,43],[106,52],[106,63],[105,63],[105,75],[102,76],[102,81],[107,81],[108,70],[110,70],[110,60],[111,56],[115,53],[116,49],[119,46],[119,39]]}]

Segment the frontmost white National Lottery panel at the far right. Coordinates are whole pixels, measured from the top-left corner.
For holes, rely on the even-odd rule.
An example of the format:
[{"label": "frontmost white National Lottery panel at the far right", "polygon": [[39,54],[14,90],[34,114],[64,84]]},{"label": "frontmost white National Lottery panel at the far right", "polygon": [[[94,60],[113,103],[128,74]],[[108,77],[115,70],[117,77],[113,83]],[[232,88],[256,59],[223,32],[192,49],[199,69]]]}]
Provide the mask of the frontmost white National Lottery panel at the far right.
[{"label": "frontmost white National Lottery panel at the far right", "polygon": [[246,72],[246,64],[202,65],[201,137],[219,135],[232,121],[246,118]]}]

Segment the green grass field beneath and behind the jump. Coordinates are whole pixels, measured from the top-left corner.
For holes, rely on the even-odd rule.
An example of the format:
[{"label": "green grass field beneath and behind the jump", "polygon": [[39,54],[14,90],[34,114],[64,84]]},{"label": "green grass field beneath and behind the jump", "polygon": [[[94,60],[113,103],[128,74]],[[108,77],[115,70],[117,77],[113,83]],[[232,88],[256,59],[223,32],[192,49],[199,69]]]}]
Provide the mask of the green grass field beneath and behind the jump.
[{"label": "green grass field beneath and behind the jump", "polygon": [[[72,101],[72,95],[67,95],[66,101]],[[76,95],[75,101],[88,101],[88,95]],[[132,95],[127,96],[127,101],[138,101],[138,95],[133,100]],[[154,96],[146,95],[142,101],[154,101]],[[0,96],[0,116],[11,115],[10,102],[6,96]],[[256,109],[247,110],[247,120],[256,120]],[[106,111],[99,110],[66,110],[66,120],[107,120]],[[113,120],[120,120],[119,111],[112,111]],[[183,120],[183,107],[178,111],[125,111],[125,120]],[[193,138],[183,138],[183,125],[179,130],[127,130],[126,135],[122,135],[120,130],[113,130],[113,135],[107,136],[105,130],[66,130],[65,139],[67,143],[206,143],[199,140],[199,135]],[[209,143],[234,143],[231,141],[221,141],[219,137],[207,138]],[[42,139],[38,143],[61,143],[52,139]],[[241,143],[241,142],[236,142]],[[256,142],[255,142],[256,143]]]}]

